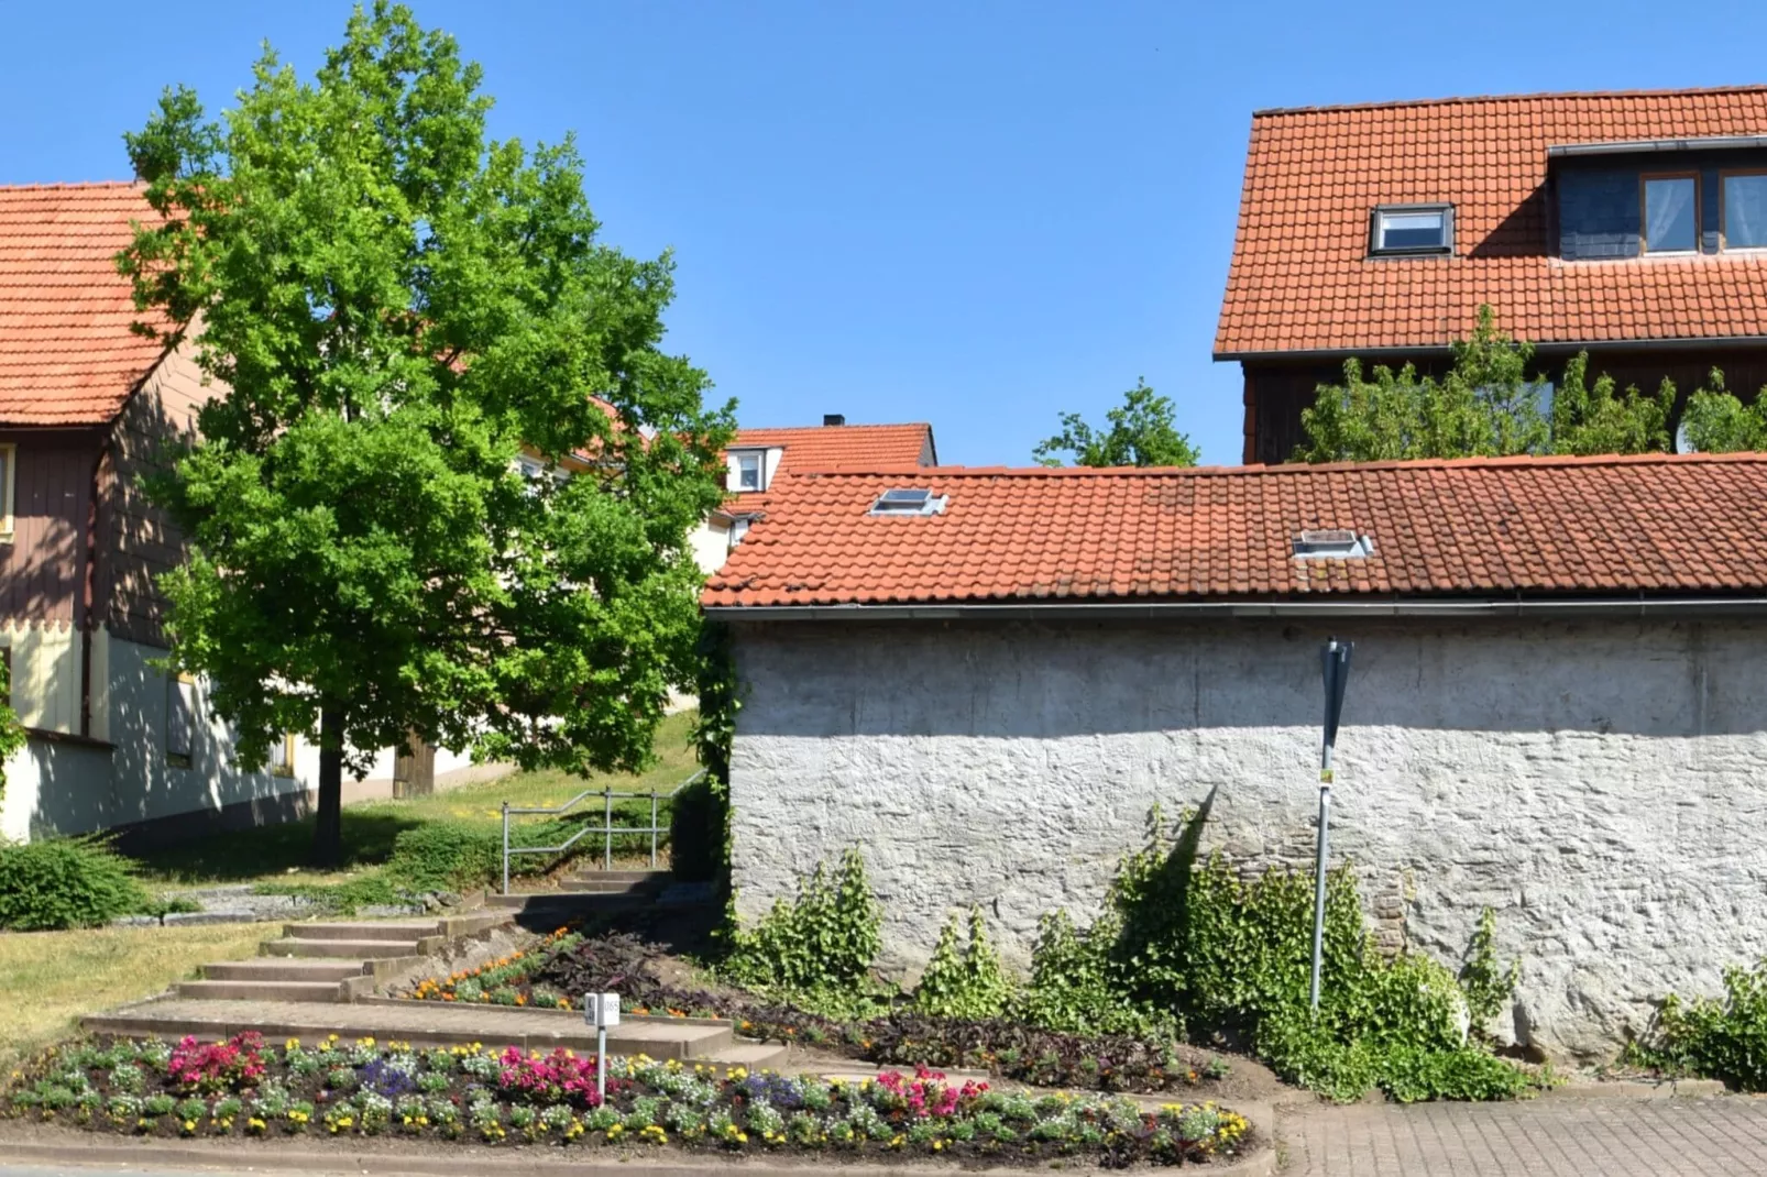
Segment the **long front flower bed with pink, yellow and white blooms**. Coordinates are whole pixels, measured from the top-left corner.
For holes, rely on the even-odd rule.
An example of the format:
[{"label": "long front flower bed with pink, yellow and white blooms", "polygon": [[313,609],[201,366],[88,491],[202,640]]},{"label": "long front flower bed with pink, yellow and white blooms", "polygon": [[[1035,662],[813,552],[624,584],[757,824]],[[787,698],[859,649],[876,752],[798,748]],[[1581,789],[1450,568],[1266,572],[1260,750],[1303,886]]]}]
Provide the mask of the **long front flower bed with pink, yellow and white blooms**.
[{"label": "long front flower bed with pink, yellow and white blooms", "polygon": [[1244,1117],[1212,1103],[1149,1112],[1126,1099],[954,1085],[924,1067],[843,1083],[615,1057],[604,1103],[595,1069],[594,1057],[567,1050],[412,1050],[336,1036],[281,1048],[256,1034],[175,1046],[111,1039],[44,1055],[12,1092],[11,1113],[145,1136],[389,1135],[1002,1165],[1180,1165],[1249,1145]]}]

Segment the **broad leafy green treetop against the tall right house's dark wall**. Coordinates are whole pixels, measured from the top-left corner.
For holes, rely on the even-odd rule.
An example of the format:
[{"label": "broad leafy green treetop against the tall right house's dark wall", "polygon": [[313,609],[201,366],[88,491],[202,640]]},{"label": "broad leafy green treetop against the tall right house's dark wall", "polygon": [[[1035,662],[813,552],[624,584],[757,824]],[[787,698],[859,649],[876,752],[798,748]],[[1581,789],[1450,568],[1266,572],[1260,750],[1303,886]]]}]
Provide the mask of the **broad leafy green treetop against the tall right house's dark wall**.
[{"label": "broad leafy green treetop against the tall right house's dark wall", "polygon": [[1642,454],[1672,449],[1675,385],[1656,394],[1615,391],[1612,376],[1589,383],[1589,355],[1576,355],[1541,412],[1543,382],[1530,376],[1534,345],[1498,330],[1490,306],[1454,343],[1442,376],[1414,364],[1398,371],[1345,362],[1341,385],[1320,385],[1302,410],[1301,461],[1498,458],[1509,454]]}]

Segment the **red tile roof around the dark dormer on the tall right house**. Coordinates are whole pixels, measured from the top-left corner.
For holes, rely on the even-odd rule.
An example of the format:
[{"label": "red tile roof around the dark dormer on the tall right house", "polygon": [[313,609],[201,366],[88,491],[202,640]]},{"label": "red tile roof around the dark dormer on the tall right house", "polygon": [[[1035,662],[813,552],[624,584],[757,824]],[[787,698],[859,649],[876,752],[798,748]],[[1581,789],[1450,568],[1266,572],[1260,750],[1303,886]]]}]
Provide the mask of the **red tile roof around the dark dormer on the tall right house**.
[{"label": "red tile roof around the dark dormer on the tall right house", "polygon": [[[1258,111],[1216,357],[1767,336],[1767,256],[1562,262],[1546,148],[1767,134],[1767,87]],[[1679,164],[1666,164],[1679,166]],[[1454,253],[1368,258],[1375,205],[1452,201]]]}]

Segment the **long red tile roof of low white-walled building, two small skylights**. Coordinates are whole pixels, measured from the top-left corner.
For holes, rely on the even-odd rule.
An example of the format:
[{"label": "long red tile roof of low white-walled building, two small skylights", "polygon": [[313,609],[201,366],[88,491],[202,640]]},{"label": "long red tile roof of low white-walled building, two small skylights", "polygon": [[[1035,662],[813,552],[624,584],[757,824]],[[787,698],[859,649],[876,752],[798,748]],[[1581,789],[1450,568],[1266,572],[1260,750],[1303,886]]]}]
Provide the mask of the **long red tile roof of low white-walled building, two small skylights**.
[{"label": "long red tile roof of low white-walled building, two small skylights", "polygon": [[[944,514],[868,514],[889,488]],[[707,606],[1767,592],[1767,454],[795,474]],[[1375,541],[1297,560],[1304,528]]]}]

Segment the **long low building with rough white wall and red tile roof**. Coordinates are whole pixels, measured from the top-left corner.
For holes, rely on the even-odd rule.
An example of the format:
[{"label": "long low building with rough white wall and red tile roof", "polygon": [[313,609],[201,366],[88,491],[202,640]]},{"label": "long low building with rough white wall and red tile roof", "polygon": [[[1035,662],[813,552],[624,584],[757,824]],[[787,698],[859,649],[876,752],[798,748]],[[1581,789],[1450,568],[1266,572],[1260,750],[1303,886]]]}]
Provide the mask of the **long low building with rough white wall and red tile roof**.
[{"label": "long low building with rough white wall and red tile roof", "polygon": [[1311,869],[1338,636],[1332,859],[1380,935],[1456,963],[1490,905],[1513,1037],[1612,1059],[1767,953],[1763,502],[1760,454],[799,467],[703,596],[739,905],[859,845],[894,967],[970,903],[1023,963],[1156,802]]}]

